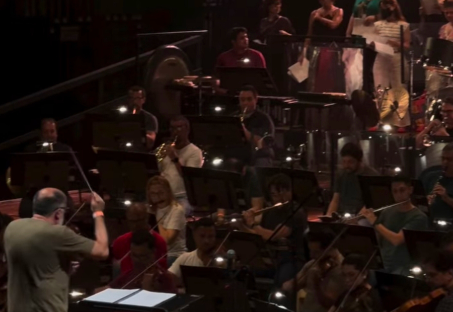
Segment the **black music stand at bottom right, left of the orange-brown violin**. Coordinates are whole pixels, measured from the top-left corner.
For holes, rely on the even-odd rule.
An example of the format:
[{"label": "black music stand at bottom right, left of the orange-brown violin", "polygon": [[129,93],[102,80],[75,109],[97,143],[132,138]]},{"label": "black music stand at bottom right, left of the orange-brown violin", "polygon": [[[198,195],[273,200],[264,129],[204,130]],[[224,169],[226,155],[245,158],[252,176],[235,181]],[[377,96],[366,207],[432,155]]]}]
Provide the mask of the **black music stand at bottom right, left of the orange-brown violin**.
[{"label": "black music stand at bottom right, left of the orange-brown violin", "polygon": [[377,281],[376,288],[386,311],[394,311],[408,300],[424,296],[431,290],[423,280],[381,271],[374,273]]}]

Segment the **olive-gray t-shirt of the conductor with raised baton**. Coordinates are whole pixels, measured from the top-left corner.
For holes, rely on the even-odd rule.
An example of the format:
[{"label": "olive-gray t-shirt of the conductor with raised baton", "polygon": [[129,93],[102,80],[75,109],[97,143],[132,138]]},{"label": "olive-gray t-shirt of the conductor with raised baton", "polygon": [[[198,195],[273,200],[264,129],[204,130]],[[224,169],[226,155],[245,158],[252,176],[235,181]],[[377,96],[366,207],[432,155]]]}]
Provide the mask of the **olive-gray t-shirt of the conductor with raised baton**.
[{"label": "olive-gray t-shirt of the conductor with raised baton", "polygon": [[70,257],[89,255],[94,241],[61,225],[25,218],[5,230],[9,312],[65,312]]}]

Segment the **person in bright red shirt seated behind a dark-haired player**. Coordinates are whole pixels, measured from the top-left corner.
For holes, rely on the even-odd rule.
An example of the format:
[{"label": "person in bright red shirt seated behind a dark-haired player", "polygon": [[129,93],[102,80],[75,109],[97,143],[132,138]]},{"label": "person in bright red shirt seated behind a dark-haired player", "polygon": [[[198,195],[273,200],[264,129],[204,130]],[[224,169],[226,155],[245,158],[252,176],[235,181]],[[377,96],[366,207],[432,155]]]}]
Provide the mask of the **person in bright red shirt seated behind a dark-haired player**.
[{"label": "person in bright red shirt seated behind a dark-haired player", "polygon": [[[120,262],[121,273],[124,274],[132,269],[132,259],[130,257],[130,242],[132,232],[139,229],[147,229],[155,238],[156,242],[156,259],[167,254],[167,243],[158,232],[151,230],[148,225],[148,211],[144,204],[133,203],[126,210],[126,220],[130,232],[118,237],[112,245],[113,259]],[[163,269],[167,269],[167,257],[159,261]]]}]

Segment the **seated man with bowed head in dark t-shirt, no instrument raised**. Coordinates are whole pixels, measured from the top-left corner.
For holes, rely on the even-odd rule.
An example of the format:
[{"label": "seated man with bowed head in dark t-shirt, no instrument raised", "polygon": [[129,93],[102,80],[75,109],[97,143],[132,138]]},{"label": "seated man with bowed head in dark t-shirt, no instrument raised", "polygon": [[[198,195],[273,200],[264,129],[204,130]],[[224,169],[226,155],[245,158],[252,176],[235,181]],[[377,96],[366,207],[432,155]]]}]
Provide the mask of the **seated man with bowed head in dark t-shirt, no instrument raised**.
[{"label": "seated man with bowed head in dark t-shirt, no instrument raised", "polygon": [[334,195],[327,215],[332,215],[333,212],[341,215],[346,212],[356,214],[364,205],[357,176],[378,175],[378,172],[363,163],[363,151],[358,145],[346,143],[340,155],[343,170],[335,180]]}]

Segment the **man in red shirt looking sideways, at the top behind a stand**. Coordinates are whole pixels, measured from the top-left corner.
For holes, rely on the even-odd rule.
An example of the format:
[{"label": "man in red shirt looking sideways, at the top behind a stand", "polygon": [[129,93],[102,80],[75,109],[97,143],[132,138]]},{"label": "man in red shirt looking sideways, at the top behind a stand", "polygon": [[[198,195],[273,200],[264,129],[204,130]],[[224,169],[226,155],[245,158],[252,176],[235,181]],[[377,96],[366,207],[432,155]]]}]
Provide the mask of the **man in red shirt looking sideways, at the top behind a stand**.
[{"label": "man in red shirt looking sideways, at the top behind a stand", "polygon": [[249,48],[247,28],[235,27],[230,31],[233,45],[231,50],[221,53],[216,67],[259,67],[266,68],[266,60],[261,52]]}]

